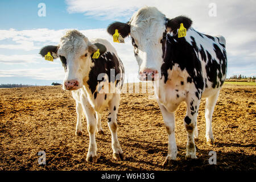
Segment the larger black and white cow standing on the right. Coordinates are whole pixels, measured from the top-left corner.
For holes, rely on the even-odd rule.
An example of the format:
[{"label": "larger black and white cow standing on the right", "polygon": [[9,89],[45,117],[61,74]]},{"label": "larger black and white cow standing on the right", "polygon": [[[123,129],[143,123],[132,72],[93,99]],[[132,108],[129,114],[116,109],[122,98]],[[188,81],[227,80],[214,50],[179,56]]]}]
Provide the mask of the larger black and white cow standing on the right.
[{"label": "larger black and white cow standing on the right", "polygon": [[[180,23],[187,35],[178,38]],[[154,81],[156,100],[162,111],[169,144],[164,164],[176,160],[174,112],[182,101],[187,103],[184,126],[187,130],[186,158],[196,158],[195,140],[198,136],[196,119],[200,100],[207,98],[205,107],[207,143],[212,144],[212,115],[218,94],[226,77],[226,49],[223,36],[209,36],[191,27],[185,16],[168,19],[155,7],[143,7],[128,23],[114,22],[115,29],[124,37],[130,35],[139,64],[140,80]],[[158,87],[159,86],[159,87]]]}]

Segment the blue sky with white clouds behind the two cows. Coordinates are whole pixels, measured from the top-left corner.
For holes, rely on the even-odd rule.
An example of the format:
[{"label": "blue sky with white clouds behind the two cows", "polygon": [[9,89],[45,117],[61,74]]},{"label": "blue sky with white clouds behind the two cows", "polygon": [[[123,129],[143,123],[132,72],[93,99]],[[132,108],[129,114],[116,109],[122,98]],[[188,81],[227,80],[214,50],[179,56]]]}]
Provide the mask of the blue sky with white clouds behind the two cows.
[{"label": "blue sky with white clouds behind the two cows", "polygon": [[[45,16],[42,6],[45,5]],[[167,18],[179,15],[193,20],[192,27],[226,39],[228,77],[256,76],[256,1],[225,0],[66,0],[0,1],[0,84],[51,85],[63,82],[59,59],[46,61],[40,48],[57,45],[67,30],[79,30],[89,39],[104,38],[117,49],[126,82],[137,82],[138,65],[130,38],[113,43],[106,27],[114,21],[128,22],[143,6],[155,6]]]}]

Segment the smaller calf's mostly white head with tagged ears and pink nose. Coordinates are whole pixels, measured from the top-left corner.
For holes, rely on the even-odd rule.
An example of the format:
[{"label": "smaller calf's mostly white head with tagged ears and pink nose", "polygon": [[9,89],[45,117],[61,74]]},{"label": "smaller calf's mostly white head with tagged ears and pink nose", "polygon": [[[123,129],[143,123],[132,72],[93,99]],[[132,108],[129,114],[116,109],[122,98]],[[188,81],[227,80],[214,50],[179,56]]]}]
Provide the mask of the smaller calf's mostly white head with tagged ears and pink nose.
[{"label": "smaller calf's mostly white head with tagged ears and pink nose", "polygon": [[54,59],[60,57],[65,71],[63,81],[64,90],[77,90],[84,84],[84,78],[88,76],[93,64],[92,55],[100,49],[100,55],[106,51],[102,44],[92,44],[86,36],[77,30],[67,31],[60,39],[58,46],[46,46],[40,51],[40,55],[50,52]]}]

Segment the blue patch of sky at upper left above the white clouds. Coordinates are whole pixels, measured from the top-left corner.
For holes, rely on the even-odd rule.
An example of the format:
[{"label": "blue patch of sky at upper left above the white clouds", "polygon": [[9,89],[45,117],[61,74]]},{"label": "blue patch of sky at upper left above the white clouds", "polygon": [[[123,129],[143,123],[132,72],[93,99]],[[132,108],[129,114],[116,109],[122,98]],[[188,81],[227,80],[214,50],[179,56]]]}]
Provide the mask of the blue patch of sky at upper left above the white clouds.
[{"label": "blue patch of sky at upper left above the white clouds", "polygon": [[[46,16],[38,16],[38,4],[46,4]],[[1,29],[15,28],[27,30],[36,28],[64,29],[79,28],[81,30],[105,28],[112,20],[92,18],[82,13],[70,14],[65,1],[0,1]],[[122,18],[119,18],[122,19]],[[123,18],[123,20],[127,20]]]}]

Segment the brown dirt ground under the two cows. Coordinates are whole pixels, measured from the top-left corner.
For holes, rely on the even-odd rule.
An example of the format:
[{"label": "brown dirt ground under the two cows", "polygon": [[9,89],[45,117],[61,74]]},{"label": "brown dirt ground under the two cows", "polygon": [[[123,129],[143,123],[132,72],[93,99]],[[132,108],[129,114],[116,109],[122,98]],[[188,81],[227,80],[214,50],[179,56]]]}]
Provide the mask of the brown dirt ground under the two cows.
[{"label": "brown dirt ground under the two cows", "polygon": [[[0,170],[255,170],[256,86],[224,85],[213,114],[214,146],[207,146],[201,101],[196,160],[185,160],[185,104],[176,111],[177,161],[162,166],[168,136],[152,93],[122,93],[118,137],[126,160],[112,158],[108,110],[102,115],[105,135],[96,135],[100,155],[86,162],[89,137],[75,136],[76,109],[71,92],[61,86],[0,89]],[[46,165],[38,164],[39,151]],[[210,165],[209,151],[217,154]]]}]

